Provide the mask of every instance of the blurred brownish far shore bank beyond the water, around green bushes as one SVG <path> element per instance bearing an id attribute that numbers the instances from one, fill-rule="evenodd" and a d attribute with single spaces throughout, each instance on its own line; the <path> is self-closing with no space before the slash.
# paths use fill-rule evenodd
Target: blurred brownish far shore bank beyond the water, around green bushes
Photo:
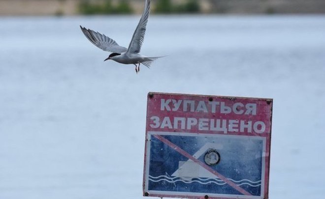
<path id="1" fill-rule="evenodd" d="M 80 4 L 111 3 L 117 5 L 121 2 L 130 6 L 128 13 L 117 10 L 111 14 L 140 14 L 144 0 L 0 0 L 0 16 L 61 16 L 82 15 Z M 191 0 L 190 0 L 191 1 Z M 157 5 L 170 4 L 177 6 L 189 0 L 152 0 L 153 13 Z M 325 0 L 199 0 L 192 1 L 199 8 L 195 14 L 325 14 Z M 120 12 L 121 11 L 121 12 Z M 161 14 L 175 14 L 162 9 Z M 90 14 L 98 14 L 96 12 Z M 99 13 L 100 14 L 100 13 Z"/>

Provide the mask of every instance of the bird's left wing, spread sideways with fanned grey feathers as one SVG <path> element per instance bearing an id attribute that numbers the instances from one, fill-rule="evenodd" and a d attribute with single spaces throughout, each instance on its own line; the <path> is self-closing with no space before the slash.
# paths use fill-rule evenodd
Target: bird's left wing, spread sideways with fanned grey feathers
<path id="1" fill-rule="evenodd" d="M 104 34 L 100 34 L 99 32 L 95 32 L 94 30 L 86 29 L 81 26 L 80 28 L 87 39 L 103 51 L 121 54 L 128 50 L 125 47 L 119 46 L 116 41 Z"/>

